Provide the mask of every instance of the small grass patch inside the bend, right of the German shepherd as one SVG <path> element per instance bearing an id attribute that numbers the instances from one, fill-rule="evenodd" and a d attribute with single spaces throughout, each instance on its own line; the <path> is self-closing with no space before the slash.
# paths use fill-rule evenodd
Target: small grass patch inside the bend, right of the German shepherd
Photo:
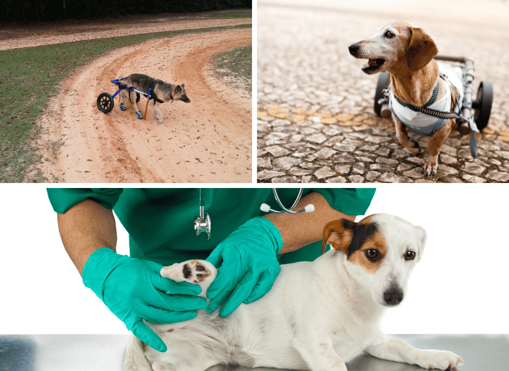
<path id="1" fill-rule="evenodd" d="M 252 45 L 241 46 L 214 56 L 215 75 L 229 85 L 251 91 Z"/>

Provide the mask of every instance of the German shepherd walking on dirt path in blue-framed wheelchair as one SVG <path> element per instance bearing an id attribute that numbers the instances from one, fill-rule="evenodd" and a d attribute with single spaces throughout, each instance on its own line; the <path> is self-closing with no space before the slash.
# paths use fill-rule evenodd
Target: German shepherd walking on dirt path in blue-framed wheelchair
<path id="1" fill-rule="evenodd" d="M 182 85 L 174 85 L 168 84 L 167 82 L 156 80 L 150 76 L 134 73 L 132 75 L 127 76 L 123 81 L 123 84 L 127 86 L 132 86 L 134 89 L 143 91 L 147 93 L 150 90 L 150 102 L 149 105 L 154 109 L 155 116 L 159 123 L 162 123 L 163 115 L 161 110 L 159 109 L 159 104 L 167 102 L 167 101 L 182 101 L 185 103 L 191 102 L 189 98 L 186 96 L 186 91 L 184 90 L 184 84 Z M 154 96 L 155 94 L 155 96 Z M 120 90 L 120 96 L 123 98 L 120 103 L 120 109 L 125 111 L 127 108 L 124 106 L 126 99 L 129 99 L 132 102 L 135 113 L 138 115 L 138 118 L 143 118 L 142 111 L 138 110 L 138 106 L 136 105 L 139 102 L 139 93 L 135 91 L 128 90 L 124 88 Z M 136 99 L 134 99 L 136 97 Z M 154 99 L 155 98 L 155 99 Z"/>

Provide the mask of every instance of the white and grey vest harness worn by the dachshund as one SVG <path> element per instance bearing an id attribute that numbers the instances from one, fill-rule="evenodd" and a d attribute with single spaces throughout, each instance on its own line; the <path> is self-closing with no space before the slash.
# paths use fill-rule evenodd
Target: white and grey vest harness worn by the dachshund
<path id="1" fill-rule="evenodd" d="M 440 78 L 450 86 L 455 94 L 456 105 L 453 111 L 450 110 L 453 99 L 450 89 L 445 96 L 436 100 L 439 89 L 439 82 L 433 90 L 431 99 L 423 107 L 416 107 L 403 102 L 394 92 L 390 90 L 388 94 L 389 109 L 393 115 L 405 125 L 408 129 L 418 135 L 431 136 L 437 130 L 442 128 L 448 119 L 459 119 L 461 116 L 461 103 L 463 102 L 463 77 L 460 77 L 461 71 L 456 72 L 453 67 L 437 62 Z M 475 130 L 470 133 L 470 152 L 472 157 L 477 157 L 477 143 L 475 139 Z M 478 131 L 477 131 L 478 132 Z"/>

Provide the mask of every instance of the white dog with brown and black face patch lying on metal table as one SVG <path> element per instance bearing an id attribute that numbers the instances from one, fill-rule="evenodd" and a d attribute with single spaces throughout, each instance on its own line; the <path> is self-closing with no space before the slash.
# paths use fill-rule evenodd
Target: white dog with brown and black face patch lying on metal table
<path id="1" fill-rule="evenodd" d="M 379 322 L 387 307 L 405 297 L 410 272 L 421 258 L 426 231 L 389 214 L 359 223 L 327 224 L 314 262 L 281 266 L 272 289 L 241 304 L 230 316 L 203 311 L 192 320 L 149 324 L 168 350 L 160 353 L 134 336 L 125 371 L 204 371 L 215 364 L 313 371 L 347 371 L 362 351 L 382 359 L 446 369 L 463 360 L 439 350 L 419 350 L 387 339 Z M 207 288 L 216 269 L 188 261 L 161 269 L 161 275 Z"/>

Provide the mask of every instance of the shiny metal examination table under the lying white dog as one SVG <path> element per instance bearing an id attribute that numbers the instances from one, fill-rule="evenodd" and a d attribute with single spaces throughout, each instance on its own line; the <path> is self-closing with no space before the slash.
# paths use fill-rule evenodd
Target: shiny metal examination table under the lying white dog
<path id="1" fill-rule="evenodd" d="M 448 350 L 464 364 L 458 371 L 509 369 L 509 335 L 389 335 L 422 349 Z M 128 335 L 0 335 L 0 371 L 122 371 Z M 362 354 L 349 371 L 422 371 Z M 213 366 L 210 371 L 246 371 Z M 258 368 L 263 371 L 263 368 Z M 274 369 L 266 369 L 274 371 Z"/>

